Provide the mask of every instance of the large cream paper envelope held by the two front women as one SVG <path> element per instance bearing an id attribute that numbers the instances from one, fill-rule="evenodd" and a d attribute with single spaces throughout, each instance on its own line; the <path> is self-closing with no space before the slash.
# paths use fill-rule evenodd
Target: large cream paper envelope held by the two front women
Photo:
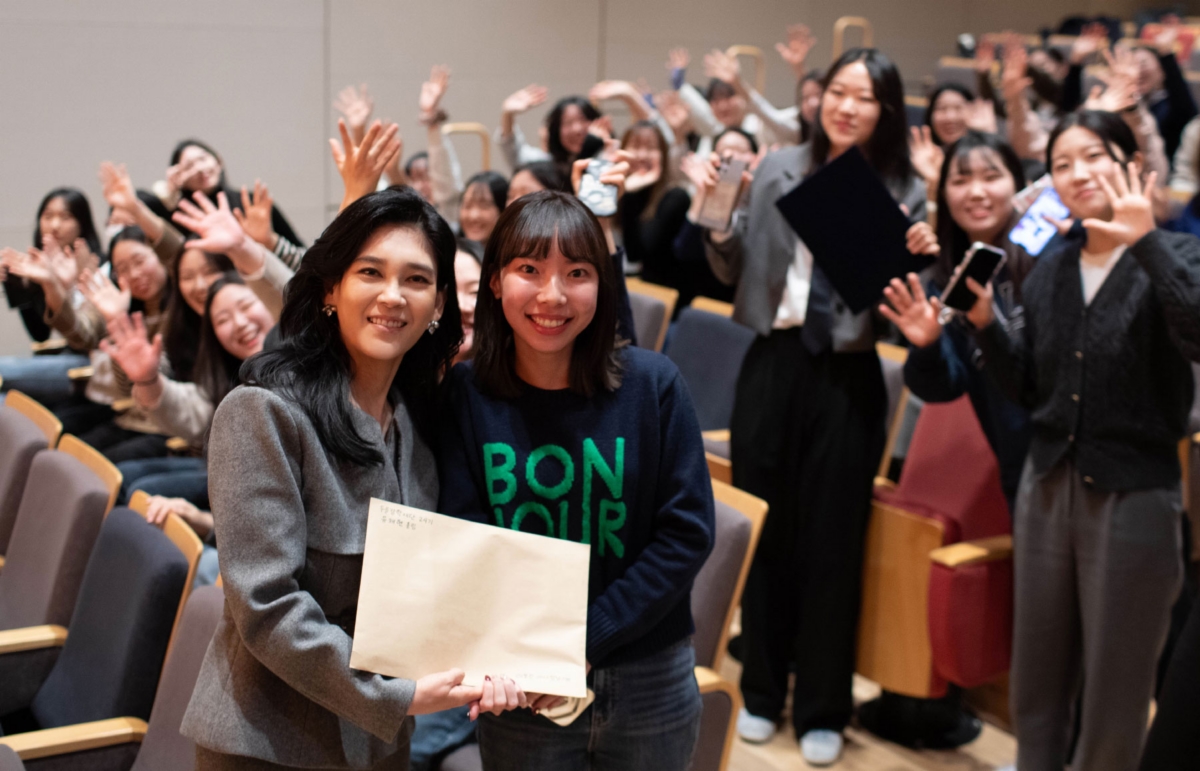
<path id="1" fill-rule="evenodd" d="M 371 500 L 350 667 L 587 694 L 590 549 Z"/>

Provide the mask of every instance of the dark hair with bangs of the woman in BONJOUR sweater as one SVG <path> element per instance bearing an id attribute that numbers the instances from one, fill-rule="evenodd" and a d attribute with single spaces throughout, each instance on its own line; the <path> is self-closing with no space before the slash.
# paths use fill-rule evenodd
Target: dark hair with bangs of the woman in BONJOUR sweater
<path id="1" fill-rule="evenodd" d="M 617 360 L 617 268 L 595 215 L 575 196 L 542 190 L 512 202 L 500 215 L 484 252 L 475 305 L 474 371 L 480 390 L 515 399 L 524 388 L 514 360 L 512 327 L 500 298 L 491 289 L 514 259 L 545 259 L 558 247 L 571 262 L 595 268 L 600 287 L 592 323 L 571 348 L 570 389 L 583 396 L 620 387 Z"/>

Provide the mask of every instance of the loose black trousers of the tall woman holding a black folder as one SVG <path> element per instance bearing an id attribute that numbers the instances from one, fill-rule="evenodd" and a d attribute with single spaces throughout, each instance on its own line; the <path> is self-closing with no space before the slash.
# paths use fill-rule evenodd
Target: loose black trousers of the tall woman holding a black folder
<path id="1" fill-rule="evenodd" d="M 778 718 L 796 665 L 797 735 L 841 730 L 851 688 L 871 483 L 887 392 L 874 351 L 817 355 L 799 329 L 751 345 L 731 425 L 733 483 L 770 510 L 742 598 L 742 695 Z"/>

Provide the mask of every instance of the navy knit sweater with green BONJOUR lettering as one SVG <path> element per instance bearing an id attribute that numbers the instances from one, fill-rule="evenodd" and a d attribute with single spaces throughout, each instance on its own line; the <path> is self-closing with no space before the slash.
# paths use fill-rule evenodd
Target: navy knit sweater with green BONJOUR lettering
<path id="1" fill-rule="evenodd" d="M 713 544 L 683 377 L 658 353 L 620 357 L 620 387 L 592 399 L 529 386 L 493 399 L 460 364 L 438 460 L 444 514 L 590 544 L 587 656 L 598 668 L 694 632 L 691 584 Z"/>

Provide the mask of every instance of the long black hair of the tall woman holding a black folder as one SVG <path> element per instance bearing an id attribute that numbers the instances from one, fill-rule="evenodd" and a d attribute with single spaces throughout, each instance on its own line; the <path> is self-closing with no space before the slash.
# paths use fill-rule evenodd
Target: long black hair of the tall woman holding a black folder
<path id="1" fill-rule="evenodd" d="M 880 102 L 880 120 L 875 124 L 871 138 L 863 148 L 863 155 L 889 189 L 907 185 L 913 177 L 912 161 L 908 159 L 908 125 L 904 109 L 904 84 L 900 71 L 892 64 L 887 54 L 877 48 L 851 48 L 838 61 L 821 83 L 822 90 L 829 89 L 829 83 L 838 73 L 854 62 L 862 61 L 871 76 L 871 88 Z M 829 135 L 821 125 L 821 110 L 817 110 L 816 125 L 812 127 L 812 171 L 824 166 L 829 160 Z"/>

